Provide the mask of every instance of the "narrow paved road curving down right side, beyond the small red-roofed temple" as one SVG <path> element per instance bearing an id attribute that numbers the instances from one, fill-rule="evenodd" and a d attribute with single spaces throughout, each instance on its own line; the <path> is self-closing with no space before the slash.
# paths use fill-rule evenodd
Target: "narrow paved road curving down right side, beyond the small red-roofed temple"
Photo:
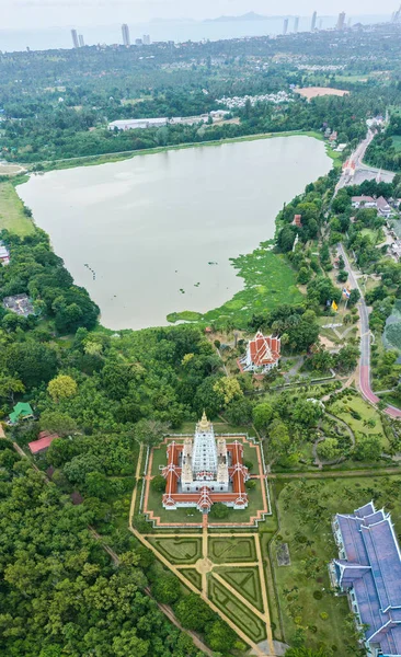
<path id="1" fill-rule="evenodd" d="M 357 289 L 360 295 L 358 302 L 359 315 L 360 315 L 360 358 L 359 358 L 359 389 L 364 397 L 371 404 L 378 404 L 379 397 L 374 393 L 370 387 L 370 328 L 369 328 L 369 313 L 365 302 L 363 291 L 358 285 L 355 273 L 353 272 L 348 257 L 345 253 L 344 246 L 339 244 L 339 254 L 343 257 L 345 269 L 348 274 L 348 280 L 353 289 Z M 401 417 L 401 411 L 394 406 L 388 406 L 385 410 L 387 415 L 390 417 Z"/>

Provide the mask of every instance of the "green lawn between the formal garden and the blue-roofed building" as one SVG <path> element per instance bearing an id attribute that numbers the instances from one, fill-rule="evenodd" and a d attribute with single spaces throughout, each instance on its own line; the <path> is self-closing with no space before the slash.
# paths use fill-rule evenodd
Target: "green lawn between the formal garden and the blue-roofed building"
<path id="1" fill-rule="evenodd" d="M 337 556 L 331 520 L 335 512 L 351 512 L 375 500 L 391 510 L 396 531 L 401 530 L 401 476 L 330 479 L 275 482 L 279 533 L 273 542 L 273 563 L 286 632 L 291 642 L 300 627 L 306 643 L 336 646 L 336 655 L 354 654 L 346 645 L 345 597 L 330 595 L 328 563 Z M 289 566 L 278 566 L 276 544 L 286 542 Z M 322 618 L 322 612 L 323 618 Z M 328 614 L 328 616 L 325 615 Z M 355 647 L 351 644 L 351 648 Z"/>

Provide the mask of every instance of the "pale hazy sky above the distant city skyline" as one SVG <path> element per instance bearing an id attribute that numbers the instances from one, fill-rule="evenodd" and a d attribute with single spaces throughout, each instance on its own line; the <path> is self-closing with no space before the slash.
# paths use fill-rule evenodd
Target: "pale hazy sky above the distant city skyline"
<path id="1" fill-rule="evenodd" d="M 399 0 L 0 0 L 0 30 L 138 23 L 154 18 L 205 19 L 255 11 L 266 15 L 291 13 L 383 14 Z"/>

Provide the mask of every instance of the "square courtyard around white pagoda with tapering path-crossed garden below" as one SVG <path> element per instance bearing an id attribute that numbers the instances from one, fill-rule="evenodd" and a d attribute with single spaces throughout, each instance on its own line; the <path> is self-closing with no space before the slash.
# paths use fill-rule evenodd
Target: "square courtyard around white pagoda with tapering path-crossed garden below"
<path id="1" fill-rule="evenodd" d="M 214 440 L 218 446 L 215 465 L 213 456 L 211 460 L 209 456 L 207 457 L 209 474 L 206 474 L 204 463 L 200 463 L 199 473 L 196 474 L 197 450 L 198 453 L 204 453 L 204 443 L 200 442 L 199 447 L 196 431 L 193 445 L 191 445 L 193 435 L 187 434 L 168 436 L 160 446 L 150 450 L 141 448 L 137 480 L 140 479 L 140 473 L 144 473 L 144 479 L 141 489 L 136 488 L 134 492 L 130 529 L 159 561 L 180 578 L 186 589 L 199 593 L 211 609 L 219 613 L 251 647 L 252 654 L 260 657 L 279 655 L 282 650 L 279 644 L 273 638 L 270 609 L 272 601 L 275 606 L 272 573 L 268 560 L 263 557 L 265 552 L 263 542 L 267 537 L 257 531 L 260 522 L 266 526 L 264 519 L 267 519 L 270 527 L 273 522 L 261 446 L 245 434 L 222 436 L 216 433 L 215 437 L 210 433 L 213 431 L 210 423 L 206 423 L 207 419 L 204 417 L 196 425 L 197 439 L 209 440 L 211 452 Z M 215 503 L 221 504 L 221 499 L 227 498 L 228 504 L 232 500 L 232 504 L 236 504 L 238 498 L 236 495 L 239 494 L 241 499 L 245 499 L 244 508 L 229 508 L 224 519 L 213 517 L 213 512 L 200 512 L 196 506 L 165 508 L 171 497 L 169 487 L 164 494 L 157 493 L 151 487 L 151 481 L 163 472 L 168 486 L 169 477 L 174 476 L 175 482 L 176 471 L 177 476 L 181 477 L 185 458 L 175 459 L 176 466 L 170 470 L 169 462 L 172 462 L 172 450 L 174 453 L 184 454 L 185 445 L 186 450 L 193 450 L 191 453 L 194 463 L 194 472 L 186 472 L 186 476 L 188 482 L 193 477 L 194 492 L 199 487 L 196 492 L 198 498 L 202 499 L 200 487 L 204 483 L 208 484 L 209 494 L 213 496 L 211 487 L 215 487 L 213 468 L 215 466 L 216 481 L 217 470 L 219 484 L 220 480 L 227 480 L 226 484 L 221 484 L 226 488 L 224 497 L 220 491 L 216 492 Z M 240 491 L 237 491 L 236 495 L 236 481 L 232 483 L 232 480 L 239 466 L 227 458 L 230 450 L 241 453 L 241 472 L 249 481 L 255 482 L 255 485 L 250 488 L 239 483 Z M 196 477 L 199 480 L 199 486 L 196 486 Z M 180 482 L 179 487 L 175 487 L 175 500 L 181 499 L 181 491 Z M 138 512 L 147 518 L 148 531 L 139 532 L 133 525 L 133 518 Z M 140 529 L 142 530 L 142 526 Z"/>

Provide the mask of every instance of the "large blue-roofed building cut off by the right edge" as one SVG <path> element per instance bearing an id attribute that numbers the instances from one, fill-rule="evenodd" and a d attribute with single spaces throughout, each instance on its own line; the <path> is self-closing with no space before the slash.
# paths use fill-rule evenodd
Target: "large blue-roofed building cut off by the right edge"
<path id="1" fill-rule="evenodd" d="M 389 514 L 373 503 L 337 514 L 333 530 L 340 558 L 336 584 L 348 593 L 371 655 L 401 657 L 401 552 Z"/>

